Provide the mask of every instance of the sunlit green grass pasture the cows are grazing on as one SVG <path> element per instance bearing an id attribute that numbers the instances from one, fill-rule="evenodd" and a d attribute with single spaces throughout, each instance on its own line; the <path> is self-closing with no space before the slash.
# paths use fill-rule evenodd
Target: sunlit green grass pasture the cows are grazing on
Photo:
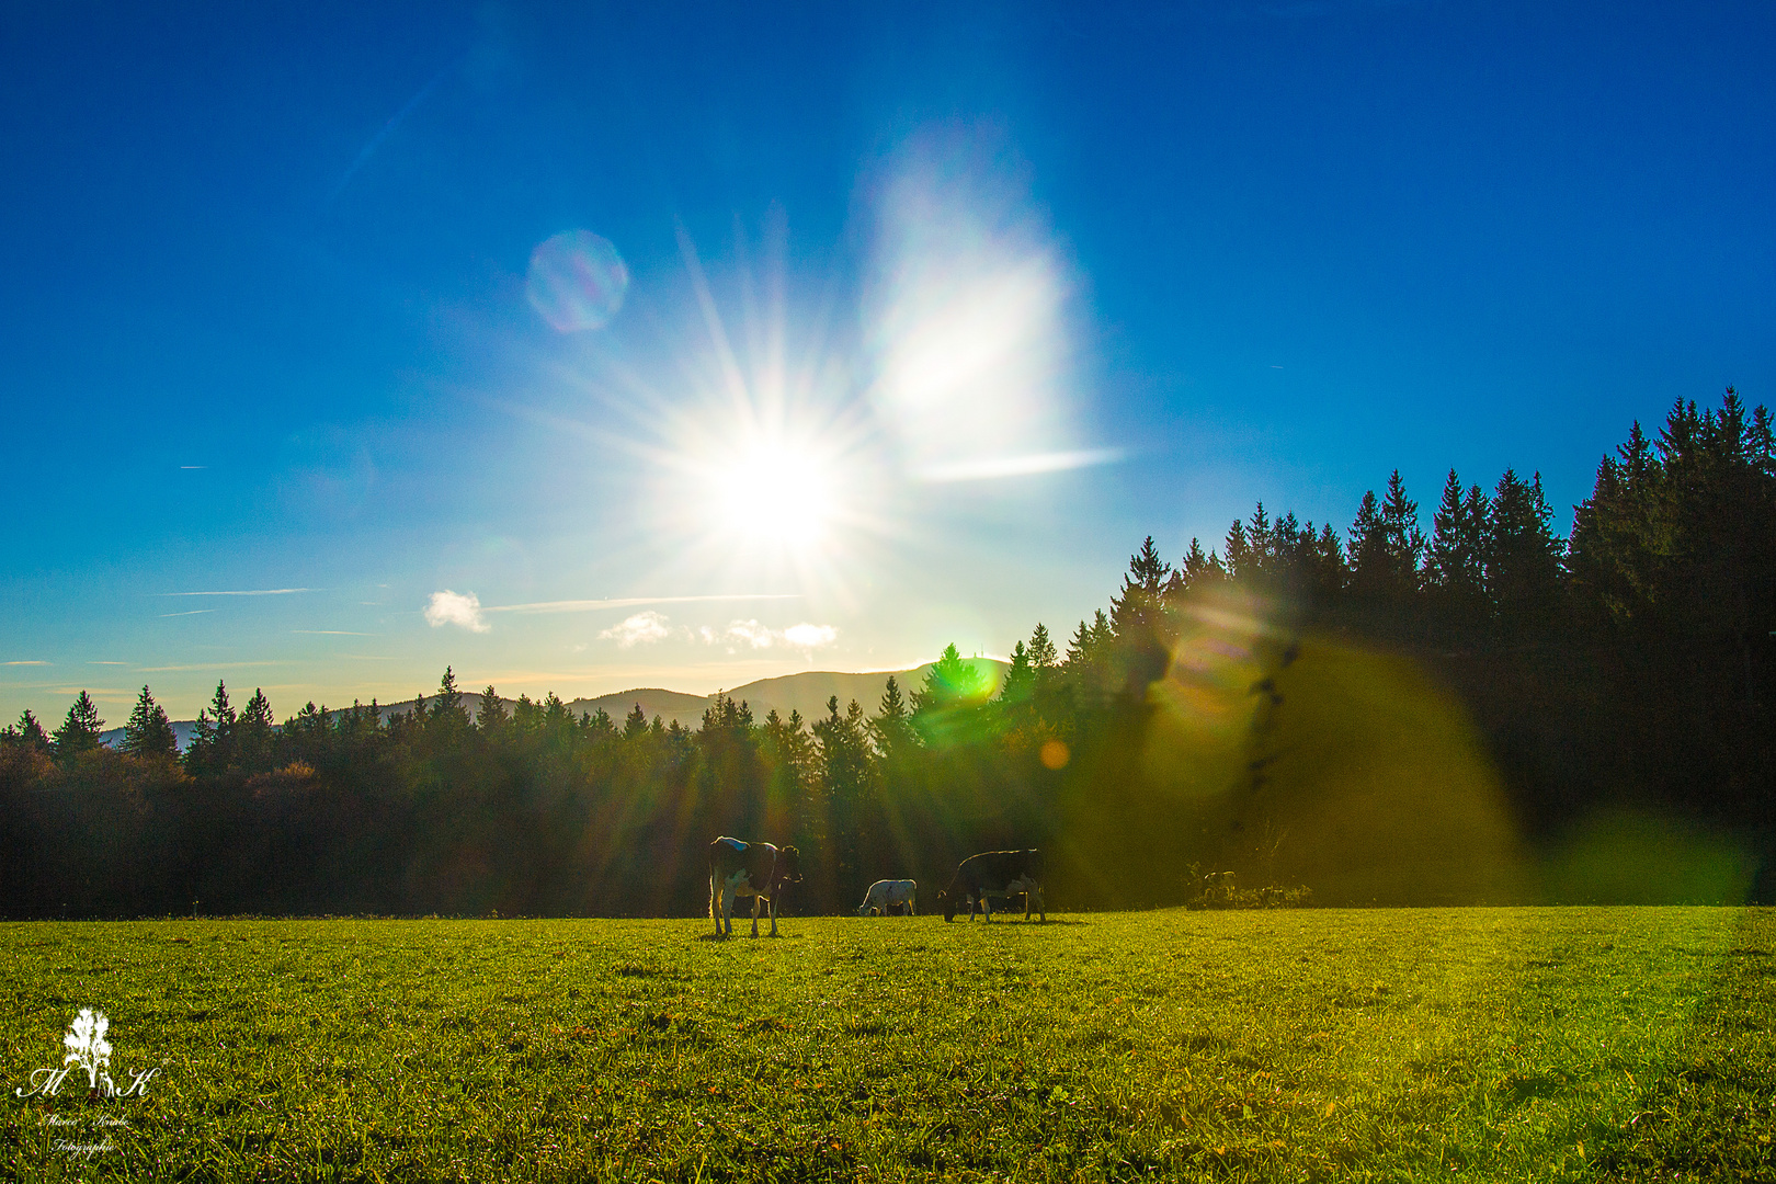
<path id="1" fill-rule="evenodd" d="M 0 925 L 0 1175 L 1776 1179 L 1771 911 L 707 927 Z"/>

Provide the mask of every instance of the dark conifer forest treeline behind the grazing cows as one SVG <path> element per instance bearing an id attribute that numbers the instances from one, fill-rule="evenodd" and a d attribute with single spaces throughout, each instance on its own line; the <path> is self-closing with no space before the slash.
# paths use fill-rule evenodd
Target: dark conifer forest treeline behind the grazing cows
<path id="1" fill-rule="evenodd" d="M 115 749 L 82 692 L 53 735 L 30 712 L 0 733 L 0 909 L 686 916 L 716 834 L 801 847 L 792 912 L 879 877 L 934 898 L 996 847 L 1044 847 L 1064 909 L 1183 902 L 1208 870 L 1327 904 L 1531 900 L 1572 895 L 1536 868 L 1623 811 L 1653 847 L 1705 836 L 1742 895 L 1776 849 L 1772 630 L 1776 442 L 1728 389 L 1636 424 L 1570 538 L 1513 470 L 1451 472 L 1428 533 L 1398 472 L 1344 536 L 1259 504 L 1176 566 L 1146 540 L 998 685 L 950 646 L 813 721 L 508 712 L 492 687 L 471 712 L 446 671 L 387 722 L 275 726 L 218 683 L 181 754 L 147 687 Z"/>

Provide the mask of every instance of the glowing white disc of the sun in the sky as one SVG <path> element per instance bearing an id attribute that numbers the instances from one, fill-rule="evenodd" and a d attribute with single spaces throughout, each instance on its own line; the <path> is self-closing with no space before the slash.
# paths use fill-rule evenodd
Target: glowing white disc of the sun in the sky
<path id="1" fill-rule="evenodd" d="M 836 515 L 829 465 L 808 447 L 755 442 L 710 474 L 716 525 L 751 543 L 817 545 Z"/>

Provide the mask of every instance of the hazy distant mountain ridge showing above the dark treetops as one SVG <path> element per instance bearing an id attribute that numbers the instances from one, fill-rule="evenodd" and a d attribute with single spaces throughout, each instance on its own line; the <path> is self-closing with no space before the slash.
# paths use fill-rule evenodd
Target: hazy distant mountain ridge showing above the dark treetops
<path id="1" fill-rule="evenodd" d="M 968 659 L 968 664 L 986 673 L 993 680 L 993 689 L 998 691 L 1005 676 L 1005 662 L 998 659 Z M 684 691 L 664 691 L 661 687 L 636 687 L 634 691 L 618 691 L 590 699 L 570 699 L 567 706 L 575 717 L 597 715 L 602 710 L 611 719 L 622 721 L 636 705 L 641 705 L 641 712 L 648 721 L 657 715 L 664 724 L 677 721 L 684 728 L 698 728 L 703 722 L 703 712 L 714 706 L 719 694 L 735 703 L 746 703 L 753 712 L 753 721 L 758 722 L 773 710 L 783 719 L 789 719 L 790 712 L 801 712 L 805 721 L 813 722 L 826 717 L 826 701 L 833 696 L 838 696 L 840 710 L 845 710 L 851 699 L 856 699 L 867 715 L 874 715 L 881 708 L 881 698 L 888 689 L 890 676 L 899 680 L 900 694 L 911 699 L 913 692 L 925 685 L 925 673 L 931 667 L 932 662 L 906 671 L 868 671 L 863 675 L 801 671 L 778 678 L 760 678 L 732 691 L 718 691 L 716 694 L 686 694 Z M 471 717 L 481 710 L 481 696 L 478 692 L 464 692 L 462 699 Z M 426 701 L 430 703 L 432 696 L 426 696 Z M 511 710 L 517 699 L 501 696 L 501 703 L 506 705 L 506 710 Z M 394 715 L 412 712 L 414 699 L 378 703 L 377 708 L 382 721 L 387 722 Z M 337 710 L 329 708 L 329 715 Z M 284 712 L 286 717 L 293 714 Z M 179 751 L 192 742 L 195 728 L 197 721 L 194 719 L 178 719 L 172 722 L 172 735 L 179 742 Z M 99 740 L 115 747 L 123 740 L 123 728 L 110 728 L 99 733 Z"/>

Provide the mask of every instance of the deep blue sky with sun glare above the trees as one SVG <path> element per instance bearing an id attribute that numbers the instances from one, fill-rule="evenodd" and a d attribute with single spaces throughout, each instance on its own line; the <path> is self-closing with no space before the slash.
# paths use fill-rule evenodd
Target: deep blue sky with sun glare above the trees
<path id="1" fill-rule="evenodd" d="M 1769 5 L 957 7 L 9 9 L 0 714 L 1005 653 L 1771 401 Z"/>

